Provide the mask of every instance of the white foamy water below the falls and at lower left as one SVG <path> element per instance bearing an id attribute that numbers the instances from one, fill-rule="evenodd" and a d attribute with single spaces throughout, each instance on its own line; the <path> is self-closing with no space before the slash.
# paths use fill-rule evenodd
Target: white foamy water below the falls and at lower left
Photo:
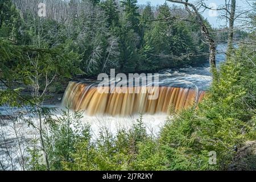
<path id="1" fill-rule="evenodd" d="M 9 107 L 8 107 L 9 108 Z M 7 109 L 7 108 L 5 108 Z M 10 110 L 6 111 L 2 107 L 2 113 L 10 114 Z M 10 109 L 10 108 L 9 108 Z M 16 110 L 18 112 L 22 109 Z M 16 113 L 14 109 L 11 109 L 11 113 Z M 72 111 L 69 111 L 72 114 Z M 60 112 L 55 113 L 53 118 L 57 119 L 61 117 Z M 147 133 L 150 135 L 157 135 L 167 120 L 166 114 L 144 114 L 143 123 L 146 126 Z M 25 115 L 28 118 L 28 115 Z M 139 115 L 133 115 L 129 117 L 112 117 L 109 115 L 95 115 L 88 116 L 83 114 L 81 119 L 81 125 L 90 125 L 92 139 L 95 140 L 99 137 L 100 131 L 108 130 L 113 135 L 117 134 L 120 129 L 125 129 L 128 131 Z M 36 126 L 38 126 L 38 119 L 33 118 Z M 72 126 L 71 126 L 72 127 Z M 0 164 L 5 168 L 5 170 L 22 170 L 22 158 L 26 159 L 27 149 L 30 146 L 30 140 L 33 138 L 38 138 L 38 132 L 32 127 L 24 123 L 22 119 L 14 122 L 11 120 L 2 120 L 0 123 Z M 2 167 L 0 166 L 0 170 Z"/>

